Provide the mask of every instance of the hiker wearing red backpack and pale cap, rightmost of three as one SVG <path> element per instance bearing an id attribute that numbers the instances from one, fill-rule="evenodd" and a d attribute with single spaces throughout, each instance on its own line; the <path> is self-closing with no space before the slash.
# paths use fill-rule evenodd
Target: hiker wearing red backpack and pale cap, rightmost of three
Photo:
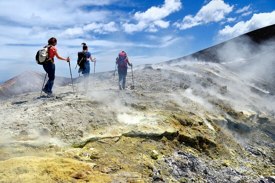
<path id="1" fill-rule="evenodd" d="M 121 53 L 119 53 L 119 56 L 116 59 L 116 64 L 119 73 L 119 90 L 125 89 L 128 68 L 127 63 L 129 66 L 133 66 L 133 64 L 130 63 L 129 58 L 126 55 L 126 51 L 122 51 Z"/>

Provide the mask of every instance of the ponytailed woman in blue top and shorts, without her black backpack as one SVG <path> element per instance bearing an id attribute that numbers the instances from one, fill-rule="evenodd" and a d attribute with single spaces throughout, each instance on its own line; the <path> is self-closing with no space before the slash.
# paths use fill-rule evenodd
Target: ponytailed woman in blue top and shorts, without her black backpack
<path id="1" fill-rule="evenodd" d="M 88 83 L 89 83 L 89 74 L 90 74 L 90 62 L 89 60 L 91 59 L 92 62 L 97 61 L 97 59 L 93 59 L 92 58 L 92 54 L 90 52 L 88 52 L 88 47 L 86 45 L 86 43 L 82 43 L 81 45 L 83 45 L 83 51 L 82 52 L 86 52 L 87 55 L 87 59 L 84 62 L 84 67 L 79 67 L 78 73 L 82 72 L 83 74 L 83 83 L 84 83 L 84 90 L 87 91 L 88 90 Z"/>

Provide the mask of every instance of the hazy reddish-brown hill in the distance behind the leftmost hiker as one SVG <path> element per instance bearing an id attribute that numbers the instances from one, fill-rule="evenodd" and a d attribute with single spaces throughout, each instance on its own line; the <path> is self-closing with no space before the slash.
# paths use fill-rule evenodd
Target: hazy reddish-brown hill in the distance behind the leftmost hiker
<path id="1" fill-rule="evenodd" d="M 0 98 L 7 97 L 9 95 L 18 95 L 39 90 L 41 91 L 44 79 L 45 73 L 31 70 L 25 71 L 0 85 Z M 47 80 L 48 77 L 46 78 L 46 81 Z M 66 86 L 71 82 L 71 78 L 56 76 L 54 80 L 54 87 Z"/>

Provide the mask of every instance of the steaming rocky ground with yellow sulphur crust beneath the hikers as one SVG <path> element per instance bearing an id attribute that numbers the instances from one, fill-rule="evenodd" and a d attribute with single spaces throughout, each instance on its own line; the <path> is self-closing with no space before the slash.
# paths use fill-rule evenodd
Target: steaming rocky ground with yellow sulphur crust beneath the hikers
<path id="1" fill-rule="evenodd" d="M 0 182 L 275 182 L 266 78 L 189 62 L 117 79 L 1 99 Z"/>

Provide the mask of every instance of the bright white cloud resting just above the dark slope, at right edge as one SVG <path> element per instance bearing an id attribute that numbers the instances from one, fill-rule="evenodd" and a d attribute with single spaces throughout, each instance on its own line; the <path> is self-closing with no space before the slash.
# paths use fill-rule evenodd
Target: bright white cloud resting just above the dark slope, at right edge
<path id="1" fill-rule="evenodd" d="M 255 13 L 252 18 L 246 22 L 240 21 L 233 27 L 230 27 L 229 25 L 225 26 L 224 29 L 219 30 L 218 35 L 215 37 L 215 39 L 231 39 L 241 34 L 272 24 L 275 24 L 275 10 L 270 13 Z"/>

